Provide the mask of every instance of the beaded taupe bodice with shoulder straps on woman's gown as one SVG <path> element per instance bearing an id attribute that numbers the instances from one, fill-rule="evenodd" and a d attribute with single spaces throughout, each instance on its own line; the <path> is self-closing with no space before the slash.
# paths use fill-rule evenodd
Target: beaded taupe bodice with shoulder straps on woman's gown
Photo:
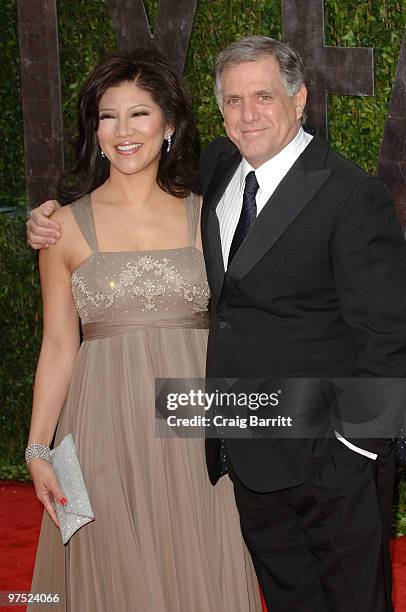
<path id="1" fill-rule="evenodd" d="M 199 203 L 185 200 L 190 245 L 156 251 L 98 250 L 90 197 L 71 204 L 92 254 L 72 273 L 82 323 L 115 320 L 154 324 L 207 310 L 209 288 L 203 254 L 195 248 Z"/>

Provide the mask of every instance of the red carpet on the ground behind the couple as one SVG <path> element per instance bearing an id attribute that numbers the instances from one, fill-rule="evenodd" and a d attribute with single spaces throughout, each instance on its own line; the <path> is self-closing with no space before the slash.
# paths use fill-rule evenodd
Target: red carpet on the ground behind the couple
<path id="1" fill-rule="evenodd" d="M 29 591 L 41 516 L 32 485 L 0 483 L 0 591 Z M 392 542 L 392 558 L 395 609 L 406 612 L 406 537 Z"/>

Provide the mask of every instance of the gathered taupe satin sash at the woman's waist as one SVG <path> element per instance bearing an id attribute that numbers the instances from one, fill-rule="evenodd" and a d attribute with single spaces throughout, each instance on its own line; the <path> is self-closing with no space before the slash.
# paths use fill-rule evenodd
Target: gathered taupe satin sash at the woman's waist
<path id="1" fill-rule="evenodd" d="M 157 319 L 156 315 L 154 315 L 151 318 L 145 316 L 137 321 L 121 319 L 83 323 L 83 340 L 99 340 L 100 338 L 129 334 L 154 327 L 165 329 L 208 329 L 209 314 L 207 311 L 199 311 L 177 318 Z"/>

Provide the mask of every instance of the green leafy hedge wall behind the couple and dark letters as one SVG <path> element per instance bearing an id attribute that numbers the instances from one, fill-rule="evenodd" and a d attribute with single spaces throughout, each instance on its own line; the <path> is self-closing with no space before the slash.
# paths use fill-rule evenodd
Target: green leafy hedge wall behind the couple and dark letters
<path id="1" fill-rule="evenodd" d="M 326 44 L 375 49 L 376 95 L 329 97 L 332 145 L 373 173 L 406 22 L 405 0 L 325 0 L 324 4 Z M 157 1 L 146 0 L 145 5 L 153 27 Z M 78 92 L 95 63 L 116 48 L 116 40 L 105 0 L 57 0 L 57 7 L 65 162 L 69 166 Z M 223 132 L 211 80 L 216 54 L 237 37 L 267 34 L 280 39 L 281 33 L 280 0 L 199 0 L 185 78 L 193 96 L 200 147 Z M 24 213 L 16 0 L 2 1 L 0 65 L 0 207 L 14 205 Z M 0 215 L 0 478 L 25 474 L 20 457 L 40 344 L 36 256 L 27 249 L 24 234 L 23 214 Z M 405 497 L 406 491 L 401 494 L 403 507 Z M 397 524 L 406 533 L 403 512 L 400 508 Z"/>

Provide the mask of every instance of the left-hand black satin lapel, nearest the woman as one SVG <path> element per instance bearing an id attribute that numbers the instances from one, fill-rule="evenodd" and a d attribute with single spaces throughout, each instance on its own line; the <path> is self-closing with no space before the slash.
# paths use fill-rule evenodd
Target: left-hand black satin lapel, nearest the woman
<path id="1" fill-rule="evenodd" d="M 216 206 L 230 182 L 241 156 L 238 153 L 228 155 L 217 165 L 204 196 L 202 208 L 202 242 L 212 299 L 218 301 L 224 282 L 224 262 L 221 250 L 220 225 L 216 215 Z"/>

